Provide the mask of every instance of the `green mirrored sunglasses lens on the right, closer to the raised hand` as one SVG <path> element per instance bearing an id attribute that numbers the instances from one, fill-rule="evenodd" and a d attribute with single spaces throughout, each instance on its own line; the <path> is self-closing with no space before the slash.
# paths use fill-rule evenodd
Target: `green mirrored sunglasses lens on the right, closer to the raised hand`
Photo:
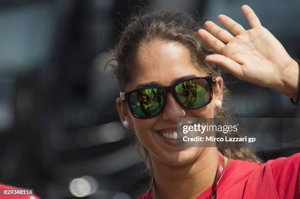
<path id="1" fill-rule="evenodd" d="M 210 88 L 205 79 L 195 79 L 182 82 L 175 87 L 177 97 L 183 106 L 197 108 L 210 99 Z"/>

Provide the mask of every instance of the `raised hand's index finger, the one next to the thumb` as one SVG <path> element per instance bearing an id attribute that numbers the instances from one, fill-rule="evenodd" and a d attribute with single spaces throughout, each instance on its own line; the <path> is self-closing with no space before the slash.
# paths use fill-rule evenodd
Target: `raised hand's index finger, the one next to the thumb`
<path id="1" fill-rule="evenodd" d="M 198 30 L 200 39 L 217 53 L 221 53 L 225 44 L 204 29 Z"/>

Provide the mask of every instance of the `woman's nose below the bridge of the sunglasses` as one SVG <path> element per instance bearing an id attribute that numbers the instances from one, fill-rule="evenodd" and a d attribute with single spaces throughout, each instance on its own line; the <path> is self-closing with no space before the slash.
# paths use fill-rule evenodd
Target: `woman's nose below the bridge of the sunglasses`
<path id="1" fill-rule="evenodd" d="M 173 95 L 169 92 L 167 93 L 167 101 L 162 112 L 162 117 L 164 120 L 170 120 L 172 122 L 177 122 L 177 119 L 185 116 L 184 109 L 178 104 Z"/>

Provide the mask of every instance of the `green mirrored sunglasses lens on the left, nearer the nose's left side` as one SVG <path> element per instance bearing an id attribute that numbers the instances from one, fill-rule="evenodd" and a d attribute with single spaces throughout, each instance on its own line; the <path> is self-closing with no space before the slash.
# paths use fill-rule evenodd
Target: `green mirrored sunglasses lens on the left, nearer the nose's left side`
<path id="1" fill-rule="evenodd" d="M 158 114 L 164 104 L 160 88 L 145 88 L 131 93 L 130 104 L 135 115 L 149 117 Z"/>

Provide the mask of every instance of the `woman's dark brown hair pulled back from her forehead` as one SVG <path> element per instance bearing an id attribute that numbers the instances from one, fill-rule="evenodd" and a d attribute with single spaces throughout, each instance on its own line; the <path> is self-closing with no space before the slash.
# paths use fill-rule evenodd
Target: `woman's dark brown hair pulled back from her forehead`
<path id="1" fill-rule="evenodd" d="M 115 75 L 119 80 L 120 89 L 126 91 L 125 85 L 130 82 L 132 71 L 134 67 L 136 67 L 134 58 L 137 56 L 138 50 L 145 44 L 149 44 L 151 41 L 158 39 L 163 42 L 176 42 L 185 46 L 190 52 L 193 64 L 204 69 L 208 74 L 221 76 L 217 66 L 204 61 L 205 57 L 213 54 L 214 51 L 208 48 L 199 39 L 197 31 L 200 28 L 200 23 L 197 22 L 197 20 L 194 20 L 190 15 L 179 10 L 160 11 L 151 8 L 143 9 L 138 15 L 129 20 L 118 44 L 116 44 L 112 50 L 117 64 L 107 64 L 105 68 L 107 66 L 113 67 Z M 226 109 L 228 90 L 225 86 L 223 90 L 224 103 L 222 110 L 216 110 L 215 117 L 231 118 L 232 115 L 228 113 Z M 138 139 L 137 148 L 139 153 L 143 148 L 145 156 L 142 157 L 149 165 L 150 170 L 152 170 L 148 150 Z M 226 157 L 261 162 L 250 145 L 232 145 L 227 148 L 218 149 Z"/>

